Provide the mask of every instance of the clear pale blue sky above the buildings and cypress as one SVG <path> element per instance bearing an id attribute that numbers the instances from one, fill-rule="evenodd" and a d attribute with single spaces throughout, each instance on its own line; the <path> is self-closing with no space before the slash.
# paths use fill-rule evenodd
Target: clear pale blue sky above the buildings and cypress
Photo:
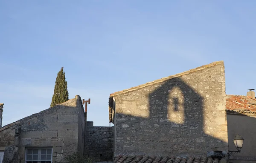
<path id="1" fill-rule="evenodd" d="M 48 109 L 64 66 L 70 99 L 108 126 L 109 94 L 224 60 L 226 93 L 256 89 L 255 0 L 1 0 L 3 125 Z"/>

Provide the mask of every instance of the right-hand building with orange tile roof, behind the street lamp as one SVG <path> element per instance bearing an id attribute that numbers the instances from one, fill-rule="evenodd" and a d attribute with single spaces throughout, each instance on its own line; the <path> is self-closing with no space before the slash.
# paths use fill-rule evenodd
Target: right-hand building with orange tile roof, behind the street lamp
<path id="1" fill-rule="evenodd" d="M 227 126 L 229 150 L 236 151 L 233 136 L 241 134 L 244 138 L 240 153 L 230 157 L 233 163 L 256 163 L 256 99 L 255 92 L 247 96 L 227 95 Z"/>

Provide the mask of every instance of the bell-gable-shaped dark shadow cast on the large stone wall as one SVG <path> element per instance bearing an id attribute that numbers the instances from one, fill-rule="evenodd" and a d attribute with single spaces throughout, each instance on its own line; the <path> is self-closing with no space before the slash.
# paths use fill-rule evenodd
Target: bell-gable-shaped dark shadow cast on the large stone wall
<path id="1" fill-rule="evenodd" d="M 167 80 L 149 94 L 148 118 L 116 113 L 116 118 L 125 118 L 129 127 L 117 127 L 115 155 L 188 156 L 206 155 L 209 150 L 226 150 L 227 142 L 204 132 L 204 114 L 207 114 L 204 113 L 204 102 L 204 98 L 181 78 Z"/>

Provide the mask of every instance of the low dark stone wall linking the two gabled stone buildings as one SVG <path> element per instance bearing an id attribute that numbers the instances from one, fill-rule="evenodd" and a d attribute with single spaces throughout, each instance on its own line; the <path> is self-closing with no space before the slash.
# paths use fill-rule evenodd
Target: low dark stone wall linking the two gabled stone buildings
<path id="1" fill-rule="evenodd" d="M 113 127 L 93 126 L 88 121 L 84 154 L 96 162 L 113 161 Z"/>

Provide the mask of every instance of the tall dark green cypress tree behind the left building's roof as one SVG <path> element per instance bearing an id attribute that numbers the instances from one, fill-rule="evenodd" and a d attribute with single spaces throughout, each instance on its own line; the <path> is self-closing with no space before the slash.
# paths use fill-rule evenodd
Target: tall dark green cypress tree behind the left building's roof
<path id="1" fill-rule="evenodd" d="M 68 100 L 67 81 L 63 67 L 56 77 L 51 107 Z"/>

